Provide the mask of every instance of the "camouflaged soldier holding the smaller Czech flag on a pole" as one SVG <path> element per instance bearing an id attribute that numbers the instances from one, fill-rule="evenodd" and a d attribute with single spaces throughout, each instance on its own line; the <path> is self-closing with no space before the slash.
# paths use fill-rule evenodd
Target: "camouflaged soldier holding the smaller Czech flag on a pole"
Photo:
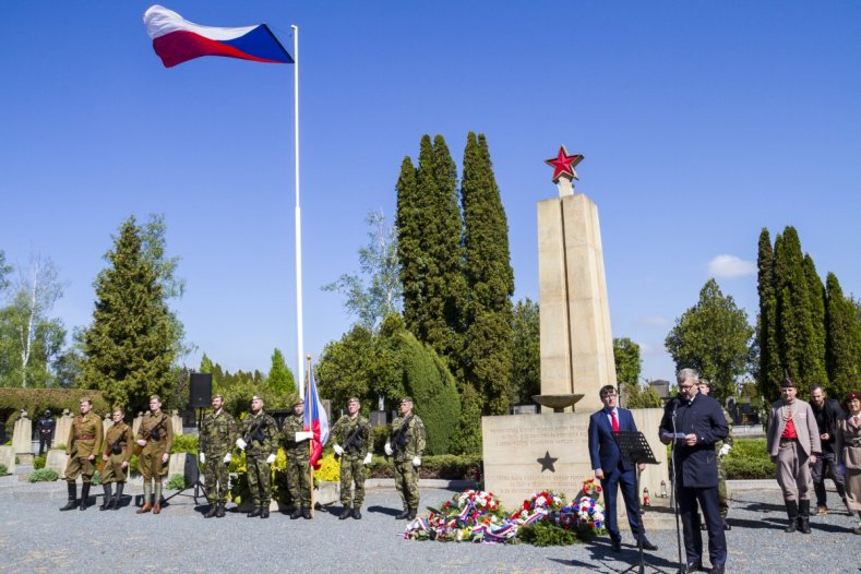
<path id="1" fill-rule="evenodd" d="M 287 490 L 295 509 L 291 519 L 303 516 L 311 519 L 311 447 L 308 441 L 313 433 L 304 428 L 304 403 L 299 395 L 288 397 L 292 415 L 284 419 L 282 441 L 287 454 Z"/>

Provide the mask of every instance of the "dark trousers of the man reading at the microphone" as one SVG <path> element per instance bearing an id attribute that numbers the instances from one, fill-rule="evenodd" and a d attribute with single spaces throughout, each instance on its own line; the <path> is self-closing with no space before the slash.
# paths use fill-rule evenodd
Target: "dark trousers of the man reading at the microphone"
<path id="1" fill-rule="evenodd" d="M 708 557 L 711 565 L 726 564 L 727 537 L 724 533 L 724 523 L 720 519 L 717 485 L 709 488 L 679 488 L 679 515 L 684 529 L 684 553 L 687 563 L 691 564 L 703 559 L 703 535 L 699 530 L 697 502 L 703 509 L 703 516 L 708 527 Z"/>

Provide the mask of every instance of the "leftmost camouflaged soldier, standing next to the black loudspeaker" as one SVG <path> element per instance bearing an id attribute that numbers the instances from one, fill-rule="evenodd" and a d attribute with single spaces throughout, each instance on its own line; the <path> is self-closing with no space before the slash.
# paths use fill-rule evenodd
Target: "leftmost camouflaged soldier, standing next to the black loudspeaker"
<path id="1" fill-rule="evenodd" d="M 237 439 L 236 420 L 222 408 L 224 397 L 212 397 L 213 409 L 203 416 L 201 424 L 201 454 L 203 476 L 210 498 L 210 512 L 204 518 L 217 516 L 224 518 L 224 505 L 227 504 L 229 465 L 234 456 L 234 443 Z"/>

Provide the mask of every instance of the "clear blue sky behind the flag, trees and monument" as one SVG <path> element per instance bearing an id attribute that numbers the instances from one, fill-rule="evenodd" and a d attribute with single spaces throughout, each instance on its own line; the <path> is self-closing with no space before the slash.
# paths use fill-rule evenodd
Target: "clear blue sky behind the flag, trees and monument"
<path id="1" fill-rule="evenodd" d="M 164 69 L 151 2 L 4 4 L 0 249 L 40 252 L 55 308 L 89 322 L 92 282 L 130 214 L 163 213 L 188 282 L 175 308 L 230 370 L 296 357 L 292 70 L 226 58 Z M 441 133 L 461 164 L 487 134 L 515 299 L 538 298 L 543 159 L 582 153 L 613 336 L 670 379 L 672 322 L 710 276 L 755 320 L 760 230 L 798 229 L 820 274 L 861 294 L 861 4 L 854 2 L 208 2 L 213 26 L 300 31 L 306 350 L 350 318 L 323 284 L 358 268 L 364 215 L 393 216 L 404 156 Z"/>

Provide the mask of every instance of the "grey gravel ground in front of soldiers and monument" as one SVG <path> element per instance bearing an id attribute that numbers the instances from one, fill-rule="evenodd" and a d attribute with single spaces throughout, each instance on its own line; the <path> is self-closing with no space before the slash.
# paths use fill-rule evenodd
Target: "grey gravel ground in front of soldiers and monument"
<path id="1" fill-rule="evenodd" d="M 770 483 L 763 486 L 767 488 L 737 492 L 732 501 L 728 572 L 861 572 L 861 537 L 851 533 L 854 518 L 846 512 L 816 516 L 813 534 L 785 534 L 779 493 Z M 429 505 L 451 495 L 443 489 L 421 491 L 422 504 Z M 313 521 L 280 514 L 262 521 L 238 513 L 205 521 L 204 509 L 184 497 L 174 499 L 159 516 L 137 516 L 130 506 L 60 513 L 64 499 L 63 482 L 0 478 L 0 571 L 621 573 L 638 560 L 630 537 L 621 553 L 610 551 L 606 539 L 555 548 L 404 540 L 405 523 L 393 518 L 399 499 L 390 489 L 369 492 L 362 521 L 338 521 L 326 509 Z M 829 500 L 836 495 L 830 493 Z M 675 530 L 653 530 L 649 538 L 660 549 L 647 554 L 646 572 L 656 572 L 650 566 L 674 572 Z"/>

